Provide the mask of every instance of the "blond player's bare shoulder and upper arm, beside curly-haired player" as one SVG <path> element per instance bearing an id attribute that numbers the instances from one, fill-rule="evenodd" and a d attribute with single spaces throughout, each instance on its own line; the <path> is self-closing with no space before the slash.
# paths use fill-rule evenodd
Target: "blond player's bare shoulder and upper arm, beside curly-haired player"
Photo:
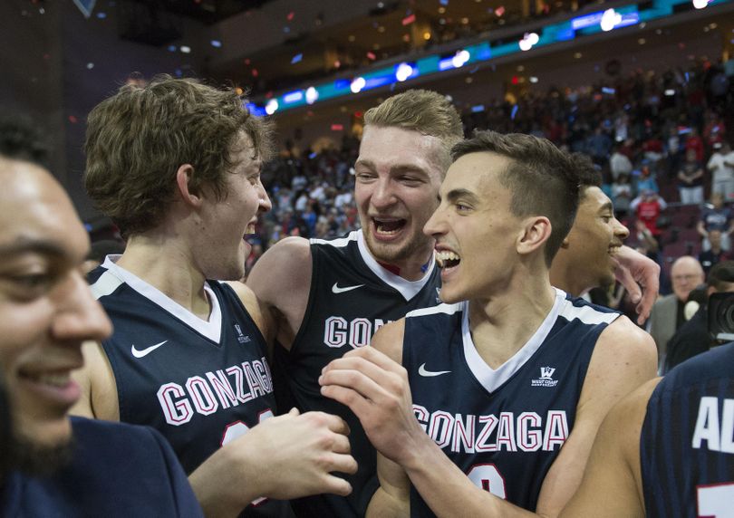
<path id="1" fill-rule="evenodd" d="M 275 320 L 275 338 L 288 350 L 304 321 L 312 270 L 308 240 L 287 237 L 269 248 L 247 276 L 263 312 Z"/>

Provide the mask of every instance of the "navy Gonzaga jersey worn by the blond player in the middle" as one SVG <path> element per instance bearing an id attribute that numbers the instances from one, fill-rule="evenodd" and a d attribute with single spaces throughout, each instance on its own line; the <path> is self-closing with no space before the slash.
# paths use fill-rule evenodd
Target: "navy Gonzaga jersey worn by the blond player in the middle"
<path id="1" fill-rule="evenodd" d="M 318 495 L 296 502 L 294 509 L 299 515 L 320 518 L 362 516 L 378 486 L 376 454 L 359 419 L 349 408 L 324 398 L 318 379 L 330 361 L 368 345 L 383 324 L 438 304 L 440 272 L 433 261 L 420 281 L 388 272 L 367 250 L 362 231 L 330 241 L 312 239 L 311 255 L 311 291 L 301 329 L 290 351 L 275 349 L 278 406 L 343 417 L 351 429 L 349 440 L 359 471 L 345 476 L 354 488 L 350 496 Z"/>

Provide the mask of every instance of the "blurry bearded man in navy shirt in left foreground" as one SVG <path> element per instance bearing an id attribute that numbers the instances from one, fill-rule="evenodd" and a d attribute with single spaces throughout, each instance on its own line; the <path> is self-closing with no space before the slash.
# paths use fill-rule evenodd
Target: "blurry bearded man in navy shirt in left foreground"
<path id="1" fill-rule="evenodd" d="M 200 517 L 158 433 L 67 414 L 82 341 L 111 325 L 82 277 L 89 238 L 44 156 L 33 129 L 0 120 L 0 371 L 12 417 L 0 516 Z"/>

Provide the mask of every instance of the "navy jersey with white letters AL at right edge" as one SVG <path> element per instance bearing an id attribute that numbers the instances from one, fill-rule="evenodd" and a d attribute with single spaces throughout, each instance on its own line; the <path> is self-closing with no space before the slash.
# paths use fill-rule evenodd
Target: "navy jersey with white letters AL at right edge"
<path id="1" fill-rule="evenodd" d="M 684 361 L 658 384 L 640 467 L 647 516 L 732 516 L 734 344 Z"/>

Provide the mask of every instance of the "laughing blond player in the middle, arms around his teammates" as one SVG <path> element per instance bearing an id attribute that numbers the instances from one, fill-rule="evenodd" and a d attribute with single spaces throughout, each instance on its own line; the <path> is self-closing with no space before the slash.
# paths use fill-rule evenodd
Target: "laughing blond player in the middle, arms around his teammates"
<path id="1" fill-rule="evenodd" d="M 275 377 L 280 373 L 287 386 L 289 405 L 336 413 L 351 429 L 359 471 L 348 480 L 362 491 L 355 490 L 348 503 L 330 495 L 300 502 L 297 511 L 304 515 L 362 516 L 376 487 L 372 446 L 351 412 L 321 396 L 321 370 L 347 350 L 369 344 L 384 323 L 440 302 L 433 238 L 422 228 L 437 206 L 449 149 L 462 138 L 459 114 L 439 93 L 409 90 L 367 110 L 364 124 L 354 165 L 362 230 L 331 241 L 289 237 L 268 250 L 247 278 L 278 315 Z M 657 296 L 660 268 L 623 248 L 618 256 L 630 269 L 620 271 L 644 320 Z"/>

